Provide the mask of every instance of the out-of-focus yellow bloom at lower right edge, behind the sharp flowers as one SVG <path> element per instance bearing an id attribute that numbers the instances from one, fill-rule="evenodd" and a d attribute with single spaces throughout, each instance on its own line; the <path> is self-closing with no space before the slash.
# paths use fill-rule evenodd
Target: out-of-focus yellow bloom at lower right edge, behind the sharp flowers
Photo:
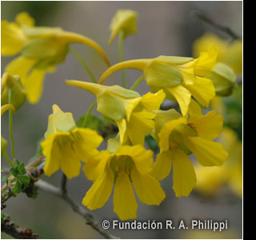
<path id="1" fill-rule="evenodd" d="M 242 198 L 242 142 L 238 141 L 233 130 L 225 128 L 220 141 L 229 153 L 229 157 L 221 168 L 202 168 L 196 165 L 198 182 L 195 187 L 199 193 L 213 196 L 222 186 L 229 186 L 238 197 Z"/>

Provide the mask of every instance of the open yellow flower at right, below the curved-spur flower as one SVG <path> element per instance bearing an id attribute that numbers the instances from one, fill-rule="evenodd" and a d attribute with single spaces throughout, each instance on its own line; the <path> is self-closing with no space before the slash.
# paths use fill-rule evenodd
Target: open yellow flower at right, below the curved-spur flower
<path id="1" fill-rule="evenodd" d="M 173 166 L 174 192 L 177 197 L 188 196 L 197 180 L 187 155 L 193 153 L 202 166 L 222 166 L 228 156 L 222 144 L 213 142 L 222 131 L 222 115 L 213 110 L 206 115 L 191 114 L 187 120 L 175 110 L 158 110 L 156 114 L 160 153 L 152 174 L 162 180 Z"/>

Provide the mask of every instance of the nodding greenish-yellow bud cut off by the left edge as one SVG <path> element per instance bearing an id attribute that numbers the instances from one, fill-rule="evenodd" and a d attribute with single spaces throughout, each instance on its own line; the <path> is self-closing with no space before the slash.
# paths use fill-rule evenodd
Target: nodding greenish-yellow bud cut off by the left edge
<path id="1" fill-rule="evenodd" d="M 18 75 L 4 73 L 1 78 L 1 105 L 12 104 L 18 110 L 26 102 L 26 91 Z"/>

